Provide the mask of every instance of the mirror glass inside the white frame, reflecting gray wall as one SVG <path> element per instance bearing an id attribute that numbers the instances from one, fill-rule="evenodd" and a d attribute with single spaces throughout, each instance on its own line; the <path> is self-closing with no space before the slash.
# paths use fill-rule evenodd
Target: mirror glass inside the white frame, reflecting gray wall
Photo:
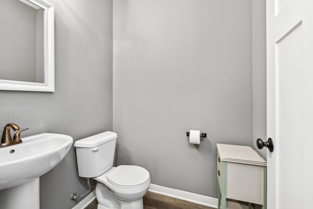
<path id="1" fill-rule="evenodd" d="M 44 13 L 27 0 L 0 0 L 0 79 L 44 83 Z"/>

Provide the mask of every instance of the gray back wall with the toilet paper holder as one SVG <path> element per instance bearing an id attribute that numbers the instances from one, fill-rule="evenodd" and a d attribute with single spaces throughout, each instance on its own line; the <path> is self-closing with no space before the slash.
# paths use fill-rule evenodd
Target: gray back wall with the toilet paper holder
<path id="1" fill-rule="evenodd" d="M 217 197 L 216 143 L 251 145 L 251 42 L 249 0 L 114 0 L 116 163 Z"/>

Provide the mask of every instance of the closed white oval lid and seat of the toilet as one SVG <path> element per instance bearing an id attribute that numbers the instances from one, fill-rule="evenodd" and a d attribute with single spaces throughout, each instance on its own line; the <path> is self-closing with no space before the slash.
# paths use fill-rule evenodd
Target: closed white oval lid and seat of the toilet
<path id="1" fill-rule="evenodd" d="M 136 165 L 119 165 L 107 176 L 108 182 L 118 187 L 141 186 L 150 179 L 149 172 Z"/>

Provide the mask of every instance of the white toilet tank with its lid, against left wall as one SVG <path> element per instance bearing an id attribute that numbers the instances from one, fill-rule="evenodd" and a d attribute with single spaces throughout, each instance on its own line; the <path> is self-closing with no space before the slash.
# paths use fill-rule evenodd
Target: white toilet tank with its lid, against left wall
<path id="1" fill-rule="evenodd" d="M 93 178 L 113 166 L 117 134 L 106 131 L 75 141 L 78 175 Z"/>

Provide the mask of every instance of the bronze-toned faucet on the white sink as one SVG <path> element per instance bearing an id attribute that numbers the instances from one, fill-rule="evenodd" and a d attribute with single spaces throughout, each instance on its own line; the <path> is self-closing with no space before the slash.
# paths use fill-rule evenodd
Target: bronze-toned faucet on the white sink
<path id="1" fill-rule="evenodd" d="M 26 128 L 26 129 L 22 129 L 21 131 L 16 132 L 14 137 L 13 137 L 13 140 L 12 140 L 11 132 L 10 132 L 11 128 L 14 131 L 20 130 L 20 127 L 18 125 L 14 124 L 14 123 L 6 124 L 5 127 L 4 127 L 4 130 L 3 130 L 3 133 L 2 133 L 2 139 L 1 139 L 0 148 L 1 147 L 6 147 L 6 146 L 10 146 L 10 145 L 14 145 L 14 144 L 18 144 L 18 143 L 22 143 L 20 133 L 22 131 L 25 131 L 25 130 L 28 129 L 28 128 Z"/>

